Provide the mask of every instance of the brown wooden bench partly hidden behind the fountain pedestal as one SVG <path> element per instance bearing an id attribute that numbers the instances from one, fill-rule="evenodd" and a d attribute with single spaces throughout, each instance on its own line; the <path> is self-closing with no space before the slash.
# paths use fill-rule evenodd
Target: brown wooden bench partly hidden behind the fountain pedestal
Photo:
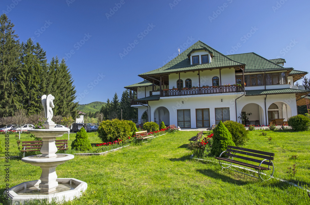
<path id="1" fill-rule="evenodd" d="M 56 140 L 56 147 L 58 150 L 68 150 L 68 140 Z M 24 141 L 22 142 L 21 152 L 40 151 L 43 145 L 43 141 Z"/>

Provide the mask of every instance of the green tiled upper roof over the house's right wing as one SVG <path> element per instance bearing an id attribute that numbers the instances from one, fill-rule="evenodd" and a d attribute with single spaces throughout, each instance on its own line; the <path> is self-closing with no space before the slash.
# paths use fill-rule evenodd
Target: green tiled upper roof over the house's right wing
<path id="1" fill-rule="evenodd" d="M 256 53 L 242 53 L 227 56 L 235 61 L 246 64 L 245 72 L 288 70 Z"/>

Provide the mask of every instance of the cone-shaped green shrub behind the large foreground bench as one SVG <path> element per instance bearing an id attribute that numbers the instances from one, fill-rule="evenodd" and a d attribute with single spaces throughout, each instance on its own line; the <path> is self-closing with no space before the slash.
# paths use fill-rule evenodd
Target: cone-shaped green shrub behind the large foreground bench
<path id="1" fill-rule="evenodd" d="M 222 121 L 213 130 L 213 143 L 211 147 L 211 154 L 219 157 L 219 155 L 227 149 L 228 145 L 236 146 L 232 141 L 232 135 L 225 127 Z M 224 154 L 222 156 L 225 156 Z"/>

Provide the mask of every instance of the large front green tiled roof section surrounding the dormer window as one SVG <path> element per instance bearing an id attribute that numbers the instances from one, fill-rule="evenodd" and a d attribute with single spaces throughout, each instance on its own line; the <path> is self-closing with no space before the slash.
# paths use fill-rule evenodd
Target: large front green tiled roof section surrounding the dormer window
<path id="1" fill-rule="evenodd" d="M 203 47 L 205 47 L 206 50 L 209 50 L 212 53 L 213 57 L 211 59 L 211 62 L 191 65 L 190 59 L 187 57 L 188 54 L 195 49 L 201 50 L 201 48 Z M 186 71 L 195 71 L 211 68 L 233 67 L 239 65 L 241 66 L 244 64 L 228 58 L 227 56 L 221 54 L 217 50 L 211 48 L 210 46 L 204 44 L 201 41 L 197 41 L 195 44 L 193 44 L 193 46 L 190 46 L 188 49 L 186 49 L 180 55 L 169 61 L 169 63 L 167 63 L 163 67 L 155 69 L 153 71 L 142 73 L 139 76 L 173 73 L 173 72 L 186 72 Z"/>

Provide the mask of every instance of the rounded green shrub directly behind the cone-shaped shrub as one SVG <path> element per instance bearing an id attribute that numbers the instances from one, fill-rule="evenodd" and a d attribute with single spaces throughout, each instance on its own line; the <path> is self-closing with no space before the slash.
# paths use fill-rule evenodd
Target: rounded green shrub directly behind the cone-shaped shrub
<path id="1" fill-rule="evenodd" d="M 248 132 L 246 131 L 243 124 L 228 120 L 224 122 L 225 127 L 232 135 L 232 141 L 236 146 L 241 146 L 249 140 Z"/>

